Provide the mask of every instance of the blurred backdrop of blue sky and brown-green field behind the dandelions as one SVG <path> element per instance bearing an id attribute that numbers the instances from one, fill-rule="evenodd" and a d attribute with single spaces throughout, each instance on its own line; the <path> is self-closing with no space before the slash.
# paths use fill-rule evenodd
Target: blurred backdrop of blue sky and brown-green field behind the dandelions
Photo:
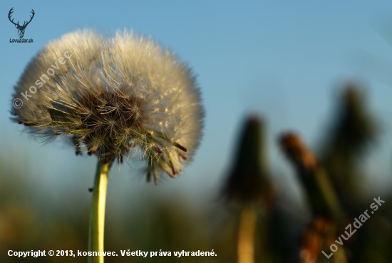
<path id="1" fill-rule="evenodd" d="M 19 38 L 7 17 L 12 7 L 15 21 L 35 11 L 24 35 L 33 43 L 9 43 Z M 83 28 L 105 35 L 133 29 L 170 48 L 197 74 L 206 111 L 200 148 L 177 179 L 155 186 L 145 182 L 140 164 L 112 168 L 105 249 L 215 249 L 218 256 L 107 262 L 237 262 L 239 212 L 219 197 L 249 113 L 265 123 L 264 165 L 276 192 L 274 208 L 259 210 L 256 262 L 299 262 L 301 236 L 312 219 L 277 143 L 287 130 L 301 135 L 331 174 L 339 165 L 350 167 L 337 179 L 331 175 L 347 218 L 360 215 L 374 197 L 385 197 L 366 230 L 343 249 L 348 262 L 392 262 L 391 1 L 1 1 L 0 14 L 0 262 L 86 261 L 6 255 L 9 249 L 87 250 L 96 158 L 76 156 L 63 142 L 42 145 L 9 120 L 13 86 L 26 64 L 49 41 Z M 358 108 L 371 124 L 349 122 L 357 130 L 344 141 L 366 125 L 376 131 L 355 142 L 361 150 L 341 153 L 331 145 L 341 138 L 336 127 L 348 86 L 361 94 Z M 341 180 L 346 177 L 348 182 Z M 277 232 L 266 234 L 274 227 Z M 289 259 L 278 257 L 282 251 Z"/>

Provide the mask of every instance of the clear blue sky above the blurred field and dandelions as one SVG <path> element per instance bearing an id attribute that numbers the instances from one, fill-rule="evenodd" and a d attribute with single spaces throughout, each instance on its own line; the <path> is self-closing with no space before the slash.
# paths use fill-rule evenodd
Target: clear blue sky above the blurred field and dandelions
<path id="1" fill-rule="evenodd" d="M 31 9 L 36 12 L 24 36 L 34 43 L 9 43 L 18 38 L 7 18 L 11 7 L 16 21 L 28 19 Z M 198 195 L 216 189 L 232 158 L 239 124 L 249 112 L 267 120 L 272 165 L 287 170 L 280 165 L 285 161 L 276 136 L 296 130 L 316 143 L 334 110 L 336 87 L 347 78 L 368 83 L 369 104 L 391 135 L 392 81 L 386 68 L 392 67 L 386 62 L 380 69 L 380 61 L 368 61 L 373 56 L 392 61 L 387 41 L 392 39 L 391 1 L 1 1 L 0 14 L 3 158 L 31 182 L 56 191 L 74 187 L 76 181 L 77 189 L 86 190 L 95 160 L 76 158 L 62 143 L 39 145 L 9 121 L 9 110 L 12 87 L 30 59 L 48 41 L 76 29 L 105 35 L 133 29 L 152 36 L 192 67 L 202 90 L 205 135 L 185 175 L 165 180 L 156 190 L 122 167 L 113 172 L 112 191 Z M 391 149 L 386 138 L 385 160 L 391 160 Z M 369 169 L 381 163 L 390 168 L 385 160 L 371 161 Z M 369 182 L 381 185 L 383 180 Z"/>

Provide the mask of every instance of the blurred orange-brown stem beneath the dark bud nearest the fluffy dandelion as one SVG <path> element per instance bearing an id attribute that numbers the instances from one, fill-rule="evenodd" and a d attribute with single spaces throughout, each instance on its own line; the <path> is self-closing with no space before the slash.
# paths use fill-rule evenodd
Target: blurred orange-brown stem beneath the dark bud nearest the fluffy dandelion
<path id="1" fill-rule="evenodd" d="M 254 235 L 257 213 L 247 205 L 241 212 L 238 230 L 238 263 L 254 263 Z"/>

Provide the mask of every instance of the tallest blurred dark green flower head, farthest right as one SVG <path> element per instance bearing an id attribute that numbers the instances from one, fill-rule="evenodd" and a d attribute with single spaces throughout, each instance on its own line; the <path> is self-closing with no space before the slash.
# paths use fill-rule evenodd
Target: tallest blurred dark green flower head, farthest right
<path id="1" fill-rule="evenodd" d="M 346 83 L 339 95 L 337 112 L 324 135 L 319 156 L 344 206 L 351 210 L 361 199 L 361 195 L 354 194 L 361 187 L 361 158 L 375 145 L 381 125 L 368 108 L 361 83 Z"/>

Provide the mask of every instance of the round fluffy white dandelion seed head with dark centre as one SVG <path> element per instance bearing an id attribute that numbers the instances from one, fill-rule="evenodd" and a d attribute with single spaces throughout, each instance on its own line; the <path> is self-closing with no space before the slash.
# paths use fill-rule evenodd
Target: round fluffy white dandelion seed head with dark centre
<path id="1" fill-rule="evenodd" d="M 71 58 L 57 63 L 47 80 L 43 74 L 66 51 Z M 195 76 L 150 38 L 128 31 L 111 39 L 68 33 L 32 59 L 14 98 L 31 86 L 38 91 L 11 110 L 14 121 L 45 141 L 68 136 L 76 154 L 108 162 L 143 158 L 148 180 L 156 182 L 162 171 L 177 175 L 199 145 L 204 113 Z"/>

